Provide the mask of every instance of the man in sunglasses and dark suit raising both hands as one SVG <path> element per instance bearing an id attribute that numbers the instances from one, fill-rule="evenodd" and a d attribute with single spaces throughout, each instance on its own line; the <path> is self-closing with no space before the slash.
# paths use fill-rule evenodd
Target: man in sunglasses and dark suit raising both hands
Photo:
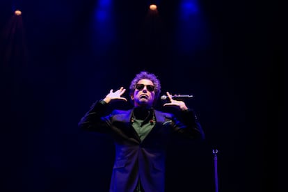
<path id="1" fill-rule="evenodd" d="M 105 114 L 111 101 L 127 102 L 122 97 L 125 88 L 110 90 L 104 99 L 93 104 L 79 127 L 113 136 L 115 163 L 111 192 L 161 192 L 165 186 L 166 146 L 170 135 L 204 138 L 204 134 L 193 111 L 184 102 L 173 99 L 170 93 L 166 93 L 169 102 L 163 106 L 179 109 L 181 121 L 172 113 L 153 108 L 161 92 L 160 81 L 154 74 L 136 74 L 129 88 L 133 109 Z"/>

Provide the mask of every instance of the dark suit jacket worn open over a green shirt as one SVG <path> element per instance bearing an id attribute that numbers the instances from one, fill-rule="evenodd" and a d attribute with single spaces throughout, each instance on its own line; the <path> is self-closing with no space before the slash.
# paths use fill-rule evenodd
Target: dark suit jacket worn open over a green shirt
<path id="1" fill-rule="evenodd" d="M 115 163 L 110 191 L 132 192 L 138 179 L 144 191 L 164 191 L 166 146 L 170 134 L 204 138 L 193 111 L 182 112 L 182 122 L 171 113 L 154 110 L 156 124 L 141 142 L 131 126 L 132 109 L 114 110 L 104 116 L 106 105 L 96 102 L 81 118 L 79 127 L 88 131 L 111 134 L 115 141 Z"/>

